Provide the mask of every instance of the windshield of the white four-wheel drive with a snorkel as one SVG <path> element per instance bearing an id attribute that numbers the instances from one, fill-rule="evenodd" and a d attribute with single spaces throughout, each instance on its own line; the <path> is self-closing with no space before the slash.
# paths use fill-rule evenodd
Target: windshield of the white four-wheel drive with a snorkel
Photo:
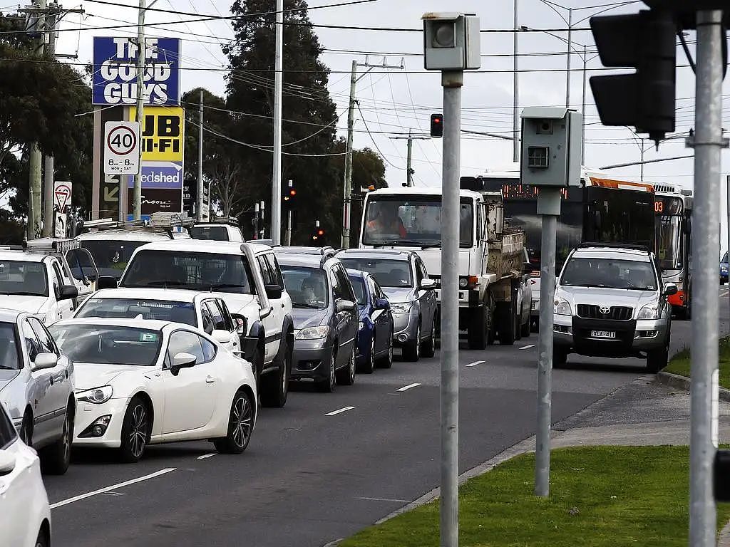
<path id="1" fill-rule="evenodd" d="M 253 276 L 245 255 L 142 249 L 120 287 L 169 287 L 253 295 Z"/>

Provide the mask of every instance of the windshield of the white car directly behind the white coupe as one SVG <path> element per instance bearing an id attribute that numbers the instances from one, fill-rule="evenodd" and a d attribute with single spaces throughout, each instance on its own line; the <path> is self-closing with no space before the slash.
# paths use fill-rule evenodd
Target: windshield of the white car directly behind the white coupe
<path id="1" fill-rule="evenodd" d="M 89 298 L 75 317 L 121 317 L 160 319 L 198 326 L 195 305 L 174 300 L 143 300 L 140 298 Z"/>

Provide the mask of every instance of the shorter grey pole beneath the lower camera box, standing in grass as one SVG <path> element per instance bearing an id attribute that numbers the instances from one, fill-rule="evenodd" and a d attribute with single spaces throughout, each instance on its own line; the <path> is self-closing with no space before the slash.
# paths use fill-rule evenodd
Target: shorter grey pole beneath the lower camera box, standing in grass
<path id="1" fill-rule="evenodd" d="M 540 330 L 537 339 L 537 436 L 535 495 L 550 494 L 550 428 L 553 410 L 553 301 L 560 188 L 540 188 L 537 214 L 542 215 L 540 261 Z"/>

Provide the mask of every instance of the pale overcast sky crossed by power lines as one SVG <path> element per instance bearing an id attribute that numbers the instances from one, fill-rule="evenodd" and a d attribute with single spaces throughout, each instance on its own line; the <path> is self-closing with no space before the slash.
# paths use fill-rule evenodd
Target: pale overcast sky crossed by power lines
<path id="1" fill-rule="evenodd" d="M 310 7 L 336 4 L 342 0 L 311 0 Z M 574 8 L 573 22 L 577 29 L 587 28 L 590 15 L 607 9 L 591 7 L 610 4 L 615 0 L 563 0 L 565 7 Z M 0 0 L 1 4 L 1 0 Z M 77 15 L 67 16 L 62 28 L 84 29 L 99 26 L 137 23 L 137 9 L 123 7 L 124 4 L 137 4 L 134 0 L 115 2 L 115 6 L 84 1 L 86 15 L 80 20 Z M 274 0 L 271 0 L 274 9 Z M 65 3 L 64 7 L 72 7 Z M 155 8 L 175 9 L 180 12 L 193 12 L 200 15 L 230 15 L 228 0 L 158 0 Z M 642 9 L 642 2 L 634 2 L 624 7 L 610 9 L 607 13 L 636 12 Z M 423 1 L 423 0 L 377 0 L 366 4 L 346 7 L 325 7 L 310 9 L 312 23 L 351 25 L 351 26 L 388 26 L 395 28 L 420 28 L 420 16 L 427 11 L 461 11 L 480 16 L 480 26 L 486 28 L 512 28 L 513 2 L 510 0 L 461 0 L 461 1 Z M 519 0 L 518 17 L 520 26 L 529 28 L 566 28 L 563 19 L 568 18 L 567 9 L 550 7 L 542 0 Z M 177 23 L 148 29 L 148 35 L 177 36 L 183 39 L 183 66 L 195 68 L 218 68 L 226 65 L 226 58 L 220 44 L 233 36 L 228 21 L 206 23 L 180 23 L 191 19 L 189 15 L 171 15 L 158 12 L 147 13 L 147 23 Z M 585 19 L 585 20 L 583 20 Z M 177 34 L 195 33 L 204 36 Z M 337 50 L 357 50 L 385 52 L 386 63 L 400 65 L 401 57 L 405 71 L 373 69 L 375 74 L 367 74 L 357 86 L 357 98 L 364 114 L 364 120 L 356 117 L 356 147 L 377 148 L 387 160 L 387 179 L 390 185 L 399 185 L 405 180 L 406 141 L 388 138 L 382 132 L 407 132 L 423 134 L 428 131 L 429 115 L 440 112 L 442 88 L 438 74 L 423 72 L 423 58 L 415 55 L 423 49 L 423 37 L 418 32 L 355 31 L 329 28 L 315 28 L 326 52 L 323 61 L 332 70 L 330 93 L 337 104 L 339 133 L 347 124 L 347 95 L 349 93 L 349 72 L 353 59 L 365 63 L 362 54 L 341 53 Z M 75 53 L 79 60 L 91 61 L 91 42 L 98 36 L 130 36 L 134 28 L 117 30 L 81 30 L 61 32 L 58 53 Z M 521 106 L 564 106 L 566 96 L 565 42 L 567 33 L 550 36 L 542 33 L 520 33 L 519 104 Z M 512 131 L 512 34 L 481 34 L 483 55 L 504 55 L 482 58 L 482 69 L 466 74 L 463 92 L 462 127 L 470 131 L 484 131 L 510 135 Z M 692 31 L 687 39 L 694 42 Z M 590 31 L 575 30 L 572 33 L 574 47 L 583 52 L 588 49 L 588 76 L 606 74 L 600 69 L 596 57 L 593 36 Z M 694 55 L 694 44 L 690 44 Z M 526 55 L 529 53 L 552 53 L 553 55 Z M 287 68 L 284 52 L 284 69 Z M 370 63 L 382 63 L 383 54 L 369 55 Z M 681 48 L 677 49 L 677 65 L 686 65 L 687 60 Z M 570 96 L 571 106 L 582 108 L 583 59 L 572 55 Z M 535 69 L 553 69 L 550 72 L 530 72 Z M 360 68 L 358 71 L 366 69 Z M 419 71 L 410 73 L 407 71 Z M 504 71 L 504 72 L 494 72 Z M 223 71 L 183 71 L 183 91 L 203 85 L 215 93 L 223 94 Z M 677 69 L 677 133 L 685 133 L 694 123 L 694 74 L 689 68 Z M 726 86 L 728 84 L 726 83 Z M 724 93 L 727 93 L 725 90 Z M 585 164 L 594 168 L 615 163 L 628 163 L 640 158 L 640 148 L 634 134 L 626 128 L 604 128 L 599 123 L 590 87 L 586 94 L 585 109 L 586 158 Z M 357 114 L 357 113 L 356 113 Z M 286 117 L 286 112 L 283 113 Z M 723 123 L 729 123 L 726 116 Z M 372 136 L 366 131 L 372 131 Z M 376 133 L 377 132 L 377 133 Z M 374 139 L 374 143 L 372 141 Z M 645 141 L 645 159 L 666 158 L 686 155 L 683 139 L 675 139 L 661 144 L 655 152 L 649 141 Z M 462 174 L 478 174 L 487 168 L 498 168 L 512 161 L 512 143 L 499 139 L 484 139 L 479 136 L 465 137 L 461 144 Z M 415 141 L 413 146 L 413 168 L 415 185 L 440 185 L 441 142 L 437 139 Z M 650 182 L 665 182 L 692 187 L 692 160 L 675 160 L 664 163 L 651 163 L 645 166 L 644 179 Z M 723 162 L 723 181 L 728 169 Z M 616 176 L 639 179 L 639 167 L 613 169 Z M 724 187 L 725 185 L 723 185 Z M 723 216 L 726 198 L 723 190 Z M 724 221 L 723 221 L 724 226 Z M 726 239 L 723 236 L 723 239 Z M 726 247 L 726 244 L 723 244 Z"/>

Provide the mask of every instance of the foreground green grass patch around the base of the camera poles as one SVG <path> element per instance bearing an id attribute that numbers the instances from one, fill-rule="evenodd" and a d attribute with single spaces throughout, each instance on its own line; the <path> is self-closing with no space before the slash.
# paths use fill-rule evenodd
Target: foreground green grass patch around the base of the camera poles
<path id="1" fill-rule="evenodd" d="M 461 486 L 462 547 L 685 547 L 687 446 L 597 446 L 553 451 L 551 492 L 533 495 L 534 454 L 523 454 Z M 730 504 L 718 508 L 718 530 Z M 437 547 L 435 500 L 340 547 Z"/>

